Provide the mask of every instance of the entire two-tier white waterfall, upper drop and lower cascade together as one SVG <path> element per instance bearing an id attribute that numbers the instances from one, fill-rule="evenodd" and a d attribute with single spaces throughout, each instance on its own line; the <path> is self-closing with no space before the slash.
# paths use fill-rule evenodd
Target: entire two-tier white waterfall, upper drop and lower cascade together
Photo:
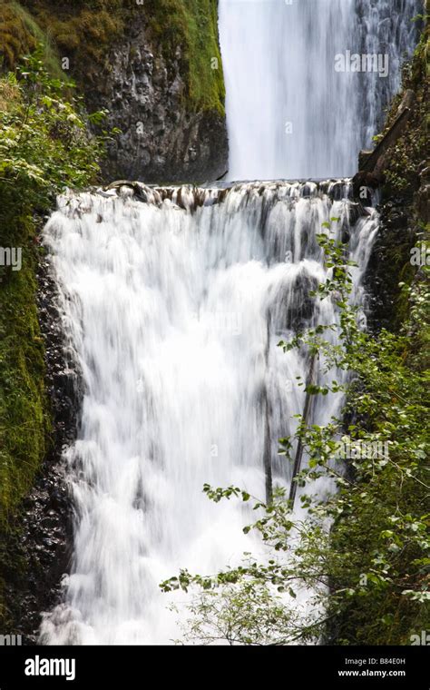
<path id="1" fill-rule="evenodd" d="M 202 487 L 264 498 L 270 467 L 288 488 L 278 439 L 295 430 L 309 362 L 277 344 L 337 320 L 331 298 L 311 295 L 327 278 L 318 232 L 347 242 L 363 304 L 378 217 L 343 176 L 399 86 L 419 5 L 220 0 L 230 178 L 337 181 L 134 183 L 59 198 L 44 242 L 83 405 L 65 453 L 73 564 L 63 603 L 44 615 L 44 644 L 169 643 L 177 615 L 160 582 L 259 551 L 242 529 L 249 508 L 215 505 Z M 389 73 L 337 72 L 346 51 L 388 54 Z M 340 405 L 317 399 L 314 423 Z M 327 488 L 320 479 L 313 490 Z"/>

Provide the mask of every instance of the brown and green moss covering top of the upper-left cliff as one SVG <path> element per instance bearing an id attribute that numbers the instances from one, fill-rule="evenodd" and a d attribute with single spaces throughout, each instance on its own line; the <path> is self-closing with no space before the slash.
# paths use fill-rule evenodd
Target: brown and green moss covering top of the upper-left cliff
<path id="1" fill-rule="evenodd" d="M 217 0 L 8 0 L 5 20 L 5 66 L 13 67 L 36 43 L 46 44 L 54 74 L 69 59 L 71 74 L 82 84 L 97 84 L 109 69 L 107 58 L 130 23 L 142 21 L 167 64 L 178 59 L 187 84 L 190 111 L 224 115 L 225 87 L 218 41 Z M 1 17 L 1 14 L 0 14 Z M 1 34 L 0 34 L 1 35 Z"/>

